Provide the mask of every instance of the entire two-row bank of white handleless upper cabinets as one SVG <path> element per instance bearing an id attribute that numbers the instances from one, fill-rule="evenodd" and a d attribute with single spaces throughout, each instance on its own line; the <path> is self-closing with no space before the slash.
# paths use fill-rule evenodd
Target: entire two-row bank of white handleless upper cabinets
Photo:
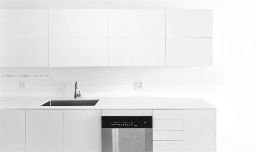
<path id="1" fill-rule="evenodd" d="M 1 66 L 212 66 L 211 9 L 1 11 Z"/>

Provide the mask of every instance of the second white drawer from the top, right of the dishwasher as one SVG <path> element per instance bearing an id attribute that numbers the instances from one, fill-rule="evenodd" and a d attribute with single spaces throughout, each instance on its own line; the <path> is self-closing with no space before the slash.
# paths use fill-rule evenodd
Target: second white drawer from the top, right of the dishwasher
<path id="1" fill-rule="evenodd" d="M 184 120 L 153 120 L 153 130 L 184 130 Z"/>

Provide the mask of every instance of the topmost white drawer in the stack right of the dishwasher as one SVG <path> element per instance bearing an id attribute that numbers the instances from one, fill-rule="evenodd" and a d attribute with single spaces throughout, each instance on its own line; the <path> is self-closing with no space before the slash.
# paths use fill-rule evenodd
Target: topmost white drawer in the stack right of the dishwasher
<path id="1" fill-rule="evenodd" d="M 153 110 L 153 120 L 184 120 L 184 110 Z"/>

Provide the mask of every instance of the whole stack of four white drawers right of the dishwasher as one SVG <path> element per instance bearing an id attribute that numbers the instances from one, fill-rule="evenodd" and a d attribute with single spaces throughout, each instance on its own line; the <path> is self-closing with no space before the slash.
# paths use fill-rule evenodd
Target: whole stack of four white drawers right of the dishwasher
<path id="1" fill-rule="evenodd" d="M 184 110 L 153 110 L 153 152 L 184 152 Z"/>

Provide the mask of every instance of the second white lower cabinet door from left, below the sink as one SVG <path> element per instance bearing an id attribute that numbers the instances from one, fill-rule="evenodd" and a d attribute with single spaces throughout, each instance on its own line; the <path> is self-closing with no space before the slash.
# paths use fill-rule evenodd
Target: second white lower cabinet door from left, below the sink
<path id="1" fill-rule="evenodd" d="M 63 152 L 63 110 L 26 110 L 26 152 Z"/>

